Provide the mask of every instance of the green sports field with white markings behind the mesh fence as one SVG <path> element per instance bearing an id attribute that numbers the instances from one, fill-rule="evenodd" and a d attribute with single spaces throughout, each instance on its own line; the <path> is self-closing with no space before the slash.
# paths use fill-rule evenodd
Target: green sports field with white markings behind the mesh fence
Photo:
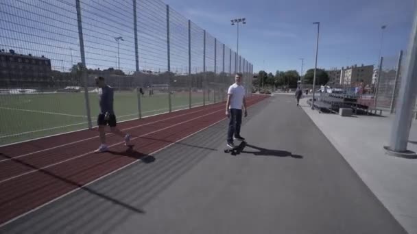
<path id="1" fill-rule="evenodd" d="M 91 119 L 96 125 L 99 113 L 98 95 L 89 93 Z M 219 99 L 217 99 L 219 101 Z M 217 102 L 216 101 L 216 102 Z M 141 97 L 142 116 L 168 112 L 168 94 Z M 189 107 L 189 93 L 171 95 L 172 109 Z M 193 106 L 202 105 L 203 94 L 193 92 Z M 206 96 L 206 104 L 213 96 Z M 136 92 L 115 92 L 117 121 L 138 118 Z M 87 117 L 84 93 L 1 94 L 0 95 L 0 145 L 21 142 L 68 131 L 86 129 Z"/>

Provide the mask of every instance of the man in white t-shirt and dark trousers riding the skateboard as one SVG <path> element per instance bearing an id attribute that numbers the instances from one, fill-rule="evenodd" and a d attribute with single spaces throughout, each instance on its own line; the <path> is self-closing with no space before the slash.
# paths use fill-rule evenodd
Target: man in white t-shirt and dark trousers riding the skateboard
<path id="1" fill-rule="evenodd" d="M 229 128 L 227 133 L 227 146 L 234 148 L 233 136 L 235 140 L 244 141 L 240 135 L 240 125 L 242 123 L 242 105 L 245 108 L 245 117 L 248 116 L 245 100 L 245 88 L 241 85 L 242 75 L 237 73 L 235 76 L 236 83 L 233 83 L 228 89 L 226 102 L 226 116 L 229 118 Z"/>

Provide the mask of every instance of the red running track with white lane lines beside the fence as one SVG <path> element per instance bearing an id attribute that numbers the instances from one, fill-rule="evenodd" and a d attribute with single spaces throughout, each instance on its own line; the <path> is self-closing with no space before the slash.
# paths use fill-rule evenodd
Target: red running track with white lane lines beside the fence
<path id="1" fill-rule="evenodd" d="M 248 106 L 267 98 L 254 95 Z M 0 224 L 64 196 L 223 120 L 224 103 L 195 107 L 118 127 L 132 135 L 134 149 L 108 133 L 108 153 L 95 154 L 97 130 L 76 131 L 0 148 Z"/>

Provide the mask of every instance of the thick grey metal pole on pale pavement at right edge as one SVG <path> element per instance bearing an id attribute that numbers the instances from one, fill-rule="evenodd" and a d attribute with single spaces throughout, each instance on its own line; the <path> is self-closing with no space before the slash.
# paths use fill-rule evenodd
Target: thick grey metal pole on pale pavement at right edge
<path id="1" fill-rule="evenodd" d="M 384 148 L 399 156 L 416 157 L 415 153 L 407 151 L 407 144 L 412 124 L 412 110 L 417 96 L 417 6 L 414 8 L 414 23 L 405 59 L 401 89 L 392 124 L 390 146 Z"/>

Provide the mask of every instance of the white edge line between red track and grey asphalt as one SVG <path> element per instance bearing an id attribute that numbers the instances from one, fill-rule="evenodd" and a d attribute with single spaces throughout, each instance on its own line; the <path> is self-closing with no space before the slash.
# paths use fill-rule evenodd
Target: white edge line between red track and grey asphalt
<path id="1" fill-rule="evenodd" d="M 207 127 L 204 127 L 204 129 L 200 129 L 200 130 L 196 131 L 195 133 L 191 133 L 191 134 L 185 136 L 184 138 L 182 138 L 180 140 L 177 140 L 176 142 L 173 142 L 171 144 L 168 144 L 167 146 L 164 146 L 163 148 L 160 148 L 160 149 L 158 149 L 158 150 L 150 153 L 149 155 L 154 155 L 154 154 L 156 154 L 156 153 L 158 153 L 160 151 L 163 151 L 165 148 L 168 148 L 169 146 L 172 146 L 174 144 L 177 144 L 178 142 L 182 142 L 183 140 L 191 137 L 192 135 L 195 135 L 197 133 L 200 133 L 201 131 L 204 131 L 204 130 L 208 129 L 209 127 L 213 127 L 214 125 L 217 125 L 217 123 L 222 122 L 224 119 L 226 119 L 226 118 L 222 118 L 222 120 L 219 120 L 219 121 L 213 123 L 213 125 L 208 125 Z M 91 184 L 93 184 L 93 183 L 95 183 L 95 182 L 97 182 L 97 181 L 99 181 L 101 179 L 104 179 L 104 178 L 110 176 L 111 174 L 115 174 L 116 172 L 119 172 L 119 170 L 123 170 L 124 168 L 128 168 L 129 166 L 132 166 L 133 164 L 140 163 L 140 162 L 142 162 L 141 159 L 134 160 L 130 164 L 126 164 L 125 166 L 122 166 L 121 168 L 118 168 L 116 170 L 113 170 L 112 172 L 109 172 L 108 174 L 104 174 L 104 175 L 102 175 L 102 177 L 99 177 L 99 178 L 97 178 L 97 179 L 95 179 L 93 181 L 90 181 L 90 182 L 88 182 L 88 183 L 86 183 L 86 184 L 84 184 L 84 185 L 82 185 L 80 187 L 77 187 L 77 188 L 75 188 L 75 189 L 73 189 L 73 190 L 71 190 L 71 191 L 69 191 L 69 192 L 67 192 L 65 194 L 62 194 L 61 196 L 58 196 L 57 198 L 53 198 L 52 200 L 49 200 L 47 203 L 44 203 L 43 205 L 40 205 L 38 207 L 35 207 L 34 209 L 31 209 L 29 211 L 26 211 L 25 213 L 22 213 L 20 216 L 16 216 L 16 217 L 12 218 L 11 220 L 8 220 L 6 222 L 3 222 L 2 224 L 0 224 L 0 228 L 3 227 L 3 226 L 5 226 L 5 225 L 7 225 L 7 224 L 10 224 L 10 223 L 14 222 L 15 220 L 19 220 L 19 218 L 22 218 L 24 216 L 27 216 L 29 213 L 33 213 L 34 211 L 37 211 L 38 209 L 41 209 L 43 207 L 46 207 L 47 205 L 49 205 L 51 203 L 54 203 L 55 201 L 60 200 L 61 198 L 64 198 L 65 196 L 68 196 L 70 194 L 73 194 L 73 192 L 77 192 L 78 190 L 81 190 L 83 187 L 86 187 L 86 186 L 91 185 Z"/>

